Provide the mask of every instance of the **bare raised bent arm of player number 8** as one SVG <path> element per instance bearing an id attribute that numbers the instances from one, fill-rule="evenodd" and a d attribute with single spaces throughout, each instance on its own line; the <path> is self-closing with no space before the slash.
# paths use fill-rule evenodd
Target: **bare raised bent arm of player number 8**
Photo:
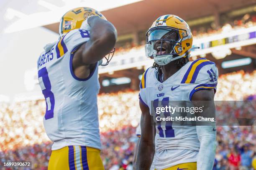
<path id="1" fill-rule="evenodd" d="M 87 28 L 90 28 L 90 40 L 84 43 L 74 56 L 81 57 L 84 65 L 100 61 L 113 50 L 117 39 L 116 29 L 109 21 L 95 15 L 87 19 L 87 24 Z"/>

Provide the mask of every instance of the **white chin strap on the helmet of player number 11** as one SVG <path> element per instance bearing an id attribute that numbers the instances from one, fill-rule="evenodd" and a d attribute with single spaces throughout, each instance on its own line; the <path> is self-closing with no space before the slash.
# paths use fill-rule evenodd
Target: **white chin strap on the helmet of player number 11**
<path id="1" fill-rule="evenodd" d="M 189 52 L 189 51 L 191 51 L 191 50 L 193 50 L 193 49 L 198 49 L 198 48 L 199 48 L 199 47 L 192 47 L 192 48 L 190 48 L 187 52 Z M 154 51 L 156 51 L 156 50 L 154 50 Z M 161 55 L 161 56 L 156 56 L 156 54 L 154 55 L 154 52 L 153 52 L 153 56 L 154 56 L 154 61 L 155 61 L 159 66 L 164 66 L 164 65 L 170 63 L 171 61 L 174 61 L 174 60 L 177 60 L 177 59 L 179 59 L 179 58 L 182 58 L 182 57 L 186 56 L 187 52 L 184 53 L 183 55 L 177 56 L 177 57 L 174 57 L 173 55 Z M 190 54 L 189 54 L 188 57 L 190 57 Z M 159 59 L 160 59 L 160 61 L 159 61 Z"/>

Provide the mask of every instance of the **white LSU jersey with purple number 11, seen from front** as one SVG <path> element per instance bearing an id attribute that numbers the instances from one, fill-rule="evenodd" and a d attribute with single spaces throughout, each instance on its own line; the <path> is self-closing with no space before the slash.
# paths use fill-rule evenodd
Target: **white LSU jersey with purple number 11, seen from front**
<path id="1" fill-rule="evenodd" d="M 200 58 L 186 63 L 179 71 L 162 81 L 157 69 L 148 68 L 140 83 L 140 101 L 150 109 L 151 101 L 190 101 L 201 89 L 216 91 L 218 69 L 215 63 Z M 152 106 L 159 107 L 157 106 Z M 162 106 L 164 107 L 164 106 Z M 154 115 L 151 115 L 154 116 Z M 196 126 L 156 126 L 156 169 L 164 169 L 186 162 L 197 162 L 200 142 Z"/>

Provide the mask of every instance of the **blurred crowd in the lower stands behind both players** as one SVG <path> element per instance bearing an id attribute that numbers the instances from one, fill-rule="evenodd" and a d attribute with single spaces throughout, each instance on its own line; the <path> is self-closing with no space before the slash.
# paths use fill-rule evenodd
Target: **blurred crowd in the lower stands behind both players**
<path id="1" fill-rule="evenodd" d="M 256 71 L 238 71 L 220 76 L 215 100 L 254 99 L 255 94 Z M 100 94 L 98 107 L 106 170 L 131 170 L 140 118 L 138 91 Z M 227 109 L 217 107 L 223 114 Z M 0 103 L 0 166 L 26 160 L 32 161 L 33 169 L 47 169 L 51 142 L 43 127 L 44 112 L 44 100 Z M 255 137 L 254 126 L 219 126 L 215 170 L 250 170 L 252 162 L 256 164 Z"/>

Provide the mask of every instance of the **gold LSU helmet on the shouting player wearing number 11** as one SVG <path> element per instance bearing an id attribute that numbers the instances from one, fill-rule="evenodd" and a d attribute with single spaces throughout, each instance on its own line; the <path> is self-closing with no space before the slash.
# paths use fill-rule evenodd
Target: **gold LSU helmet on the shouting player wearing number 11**
<path id="1" fill-rule="evenodd" d="M 189 25 L 176 15 L 163 15 L 154 21 L 146 33 L 146 56 L 158 65 L 189 57 L 193 36 Z M 197 48 L 197 47 L 196 47 Z"/>

